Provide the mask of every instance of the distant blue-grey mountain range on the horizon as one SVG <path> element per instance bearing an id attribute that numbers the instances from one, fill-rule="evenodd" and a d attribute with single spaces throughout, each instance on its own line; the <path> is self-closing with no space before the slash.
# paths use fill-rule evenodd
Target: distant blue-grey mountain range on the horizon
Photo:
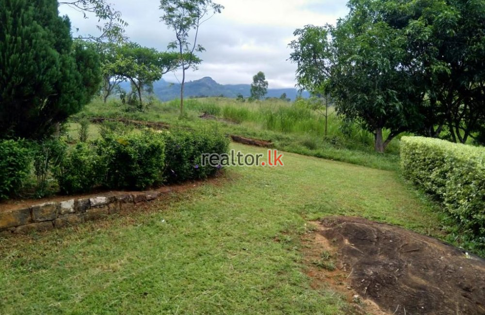
<path id="1" fill-rule="evenodd" d="M 121 87 L 124 90 L 130 89 L 129 82 L 122 82 Z M 229 98 L 236 98 L 238 94 L 242 94 L 244 98 L 251 95 L 250 84 L 219 84 L 210 77 L 185 82 L 185 97 L 204 97 L 204 96 L 221 96 Z M 161 101 L 169 101 L 180 97 L 180 84 L 170 83 L 161 79 L 153 83 L 153 93 Z M 266 97 L 280 97 L 281 94 L 286 93 L 286 97 L 294 100 L 298 95 L 298 91 L 294 88 L 288 89 L 268 89 Z M 303 92 L 303 97 L 309 97 L 307 92 Z"/>

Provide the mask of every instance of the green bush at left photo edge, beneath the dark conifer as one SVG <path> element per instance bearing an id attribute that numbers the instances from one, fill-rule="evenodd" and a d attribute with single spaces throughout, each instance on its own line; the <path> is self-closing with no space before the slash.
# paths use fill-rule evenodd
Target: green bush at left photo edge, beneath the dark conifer
<path id="1" fill-rule="evenodd" d="M 0 141 L 0 199 L 17 193 L 30 173 L 31 163 L 28 142 Z"/>

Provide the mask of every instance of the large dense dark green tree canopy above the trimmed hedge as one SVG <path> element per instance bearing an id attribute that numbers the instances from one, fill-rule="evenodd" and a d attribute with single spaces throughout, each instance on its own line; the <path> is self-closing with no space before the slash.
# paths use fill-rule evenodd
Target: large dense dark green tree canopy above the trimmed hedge
<path id="1" fill-rule="evenodd" d="M 290 43 L 300 88 L 330 93 L 339 115 L 375 135 L 465 142 L 484 127 L 483 0 L 351 0 L 335 27 L 306 26 Z M 383 139 L 383 130 L 388 137 Z"/>

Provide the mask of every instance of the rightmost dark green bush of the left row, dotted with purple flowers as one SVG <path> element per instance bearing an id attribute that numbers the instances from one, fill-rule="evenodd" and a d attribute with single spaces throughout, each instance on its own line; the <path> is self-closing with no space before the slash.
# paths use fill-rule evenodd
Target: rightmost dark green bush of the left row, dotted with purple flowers
<path id="1" fill-rule="evenodd" d="M 203 179 L 214 175 L 218 168 L 202 166 L 202 154 L 223 154 L 229 148 L 229 139 L 217 131 L 174 129 L 163 136 L 166 153 L 164 175 L 169 182 Z"/>

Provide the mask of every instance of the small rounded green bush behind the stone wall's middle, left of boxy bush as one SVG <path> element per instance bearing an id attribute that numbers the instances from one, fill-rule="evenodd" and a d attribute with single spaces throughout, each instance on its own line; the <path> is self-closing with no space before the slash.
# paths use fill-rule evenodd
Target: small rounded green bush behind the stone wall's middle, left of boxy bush
<path id="1" fill-rule="evenodd" d="M 88 192 L 102 181 L 106 165 L 91 145 L 80 142 L 65 154 L 54 173 L 64 194 Z"/>

